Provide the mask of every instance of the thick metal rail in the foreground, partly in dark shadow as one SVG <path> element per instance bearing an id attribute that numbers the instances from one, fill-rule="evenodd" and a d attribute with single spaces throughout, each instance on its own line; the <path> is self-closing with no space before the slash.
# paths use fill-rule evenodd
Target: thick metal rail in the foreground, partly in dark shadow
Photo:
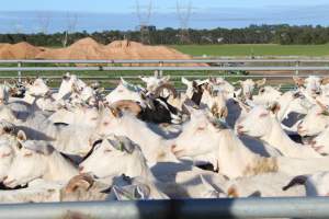
<path id="1" fill-rule="evenodd" d="M 328 218 L 329 199 L 240 198 L 0 205 L 0 219 Z"/>

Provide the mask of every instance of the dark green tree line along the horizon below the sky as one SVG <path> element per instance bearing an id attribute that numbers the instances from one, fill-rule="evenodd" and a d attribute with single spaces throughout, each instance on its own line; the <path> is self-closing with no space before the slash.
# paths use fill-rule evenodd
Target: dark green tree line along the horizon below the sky
<path id="1" fill-rule="evenodd" d="M 141 37 L 143 35 L 143 37 Z M 145 37 L 146 35 L 146 37 Z M 36 46 L 63 47 L 84 37 L 92 37 L 99 43 L 109 44 L 113 41 L 129 39 L 151 45 L 174 44 L 326 44 L 329 43 L 329 27 L 326 26 L 292 26 L 281 25 L 250 25 L 243 28 L 213 28 L 213 30 L 177 30 L 162 28 L 147 32 L 140 31 L 103 31 L 88 33 L 54 33 L 54 34 L 0 34 L 1 43 L 27 42 Z M 66 41 L 64 45 L 64 39 Z"/>

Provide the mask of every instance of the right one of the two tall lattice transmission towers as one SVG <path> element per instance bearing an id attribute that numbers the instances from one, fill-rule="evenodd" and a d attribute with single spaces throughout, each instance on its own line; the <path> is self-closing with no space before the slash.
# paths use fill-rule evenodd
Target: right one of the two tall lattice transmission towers
<path id="1" fill-rule="evenodd" d="M 189 22 L 192 13 L 192 2 L 189 1 L 186 5 L 182 5 L 179 0 L 177 0 L 177 14 L 180 20 L 181 28 L 180 28 L 180 38 L 182 44 L 190 43 L 190 34 L 189 34 Z"/>

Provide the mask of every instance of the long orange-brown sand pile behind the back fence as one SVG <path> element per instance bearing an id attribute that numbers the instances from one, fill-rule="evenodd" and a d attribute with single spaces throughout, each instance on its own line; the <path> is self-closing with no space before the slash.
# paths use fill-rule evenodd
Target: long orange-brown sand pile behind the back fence
<path id="1" fill-rule="evenodd" d="M 27 43 L 0 44 L 0 59 L 191 59 L 173 48 L 115 41 L 109 45 L 82 38 L 66 48 L 35 47 Z M 185 65 L 191 66 L 191 65 Z M 193 66 L 193 65 L 192 65 Z M 195 65 L 194 65 L 195 66 Z"/>

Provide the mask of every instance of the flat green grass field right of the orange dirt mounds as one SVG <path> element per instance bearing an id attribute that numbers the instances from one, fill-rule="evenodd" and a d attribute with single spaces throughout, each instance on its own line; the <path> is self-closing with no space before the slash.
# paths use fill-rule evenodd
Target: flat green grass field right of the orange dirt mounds
<path id="1" fill-rule="evenodd" d="M 175 45 L 173 48 L 192 56 L 329 56 L 329 44 L 325 45 Z"/>

